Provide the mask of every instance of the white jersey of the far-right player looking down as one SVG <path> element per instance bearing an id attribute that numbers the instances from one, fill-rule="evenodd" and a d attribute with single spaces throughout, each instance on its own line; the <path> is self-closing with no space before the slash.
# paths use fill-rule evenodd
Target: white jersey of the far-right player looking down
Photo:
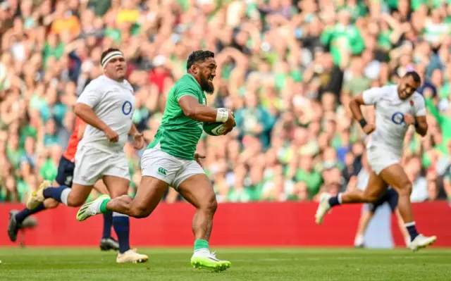
<path id="1" fill-rule="evenodd" d="M 383 147 L 402 155 L 402 144 L 408 128 L 404 123 L 404 114 L 426 115 L 423 96 L 414 92 L 402 100 L 397 94 L 397 85 L 367 89 L 362 95 L 364 103 L 373 104 L 376 109 L 376 129 L 371 134 L 368 147 Z"/>

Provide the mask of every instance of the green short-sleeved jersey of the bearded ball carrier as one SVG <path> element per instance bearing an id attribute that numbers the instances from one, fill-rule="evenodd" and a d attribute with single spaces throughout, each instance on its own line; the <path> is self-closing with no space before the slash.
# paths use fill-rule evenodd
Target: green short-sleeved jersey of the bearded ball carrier
<path id="1" fill-rule="evenodd" d="M 192 75 L 183 75 L 169 91 L 161 125 L 147 149 L 159 148 L 172 156 L 194 160 L 197 142 L 202 135 L 202 122 L 183 113 L 178 100 L 185 95 L 194 96 L 199 104 L 206 104 L 206 96 L 199 83 Z"/>

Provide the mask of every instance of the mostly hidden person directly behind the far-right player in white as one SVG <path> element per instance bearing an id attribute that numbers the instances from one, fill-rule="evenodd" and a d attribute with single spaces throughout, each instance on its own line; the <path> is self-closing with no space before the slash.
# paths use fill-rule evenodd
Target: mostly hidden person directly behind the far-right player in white
<path id="1" fill-rule="evenodd" d="M 371 173 L 371 168 L 369 167 L 368 159 L 366 158 L 366 152 L 362 154 L 362 169 L 359 171 L 357 176 L 353 175 L 347 185 L 347 192 L 352 192 L 355 189 L 364 191 L 368 185 L 369 176 Z M 363 206 L 363 213 L 360 216 L 359 225 L 357 226 L 357 233 L 354 239 L 354 246 L 357 248 L 362 248 L 365 246 L 364 236 L 366 228 L 373 218 L 376 210 L 385 204 L 385 202 L 390 206 L 392 213 L 396 214 L 397 222 L 400 225 L 400 230 L 406 245 L 410 242 L 409 232 L 407 232 L 404 227 L 404 221 L 402 221 L 400 211 L 397 209 L 398 195 L 395 189 L 388 187 L 388 189 L 383 193 L 381 197 L 376 202 L 366 203 Z"/>

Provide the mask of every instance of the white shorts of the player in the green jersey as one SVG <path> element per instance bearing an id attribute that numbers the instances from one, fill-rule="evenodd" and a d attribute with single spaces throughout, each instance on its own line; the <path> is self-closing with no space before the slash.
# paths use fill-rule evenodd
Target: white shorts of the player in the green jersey
<path id="1" fill-rule="evenodd" d="M 204 174 L 204 169 L 194 160 L 185 160 L 160 149 L 147 149 L 141 158 L 141 174 L 156 177 L 175 189 L 188 177 Z"/>

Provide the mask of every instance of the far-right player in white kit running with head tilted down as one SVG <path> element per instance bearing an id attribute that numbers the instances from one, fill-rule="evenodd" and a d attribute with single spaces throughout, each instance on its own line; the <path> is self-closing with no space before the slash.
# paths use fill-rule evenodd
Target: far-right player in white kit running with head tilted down
<path id="1" fill-rule="evenodd" d="M 369 183 L 364 191 L 353 190 L 338 196 L 321 194 L 315 215 L 317 224 L 322 223 L 330 208 L 340 204 L 377 201 L 388 186 L 392 186 L 399 194 L 398 208 L 409 232 L 408 247 L 415 251 L 435 242 L 437 237 L 426 237 L 416 231 L 410 203 L 412 182 L 400 165 L 404 136 L 409 125 L 414 126 L 421 136 L 426 135 L 428 131 L 424 98 L 416 92 L 420 84 L 418 73 L 409 72 L 400 78 L 397 85 L 368 89 L 350 101 L 355 120 L 359 121 L 367 135 L 373 133 L 367 146 L 367 156 L 372 169 Z M 377 127 L 366 123 L 360 109 L 360 106 L 365 105 L 375 106 Z"/>

